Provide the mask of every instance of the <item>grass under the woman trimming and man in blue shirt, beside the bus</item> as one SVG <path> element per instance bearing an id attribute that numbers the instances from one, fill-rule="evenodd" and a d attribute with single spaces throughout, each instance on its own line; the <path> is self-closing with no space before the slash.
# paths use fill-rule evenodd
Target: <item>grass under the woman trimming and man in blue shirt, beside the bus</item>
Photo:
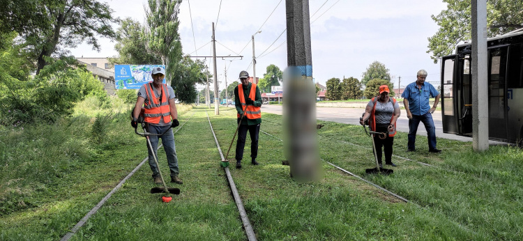
<path id="1" fill-rule="evenodd" d="M 277 120 L 273 123 L 279 126 L 281 122 Z M 449 222 L 473 233 L 476 238 L 522 238 L 521 149 L 491 146 L 485 153 L 474 153 L 471 143 L 438 139 L 438 146 L 444 153 L 433 154 L 423 147 L 426 145 L 426 137 L 420 136 L 417 141 L 418 151 L 407 153 L 404 151 L 407 133 L 399 132 L 395 137 L 395 155 L 408 156 L 434 166 L 423 166 L 393 157 L 393 162 L 399 166 L 386 166 L 394 169 L 393 175 L 366 175 L 365 168 L 374 166 L 372 149 L 337 141 L 372 147 L 371 139 L 365 135 L 363 127 L 321 123 L 325 126 L 318 130 L 319 149 L 325 160 L 404 196 L 434 215 L 446 217 Z"/>

